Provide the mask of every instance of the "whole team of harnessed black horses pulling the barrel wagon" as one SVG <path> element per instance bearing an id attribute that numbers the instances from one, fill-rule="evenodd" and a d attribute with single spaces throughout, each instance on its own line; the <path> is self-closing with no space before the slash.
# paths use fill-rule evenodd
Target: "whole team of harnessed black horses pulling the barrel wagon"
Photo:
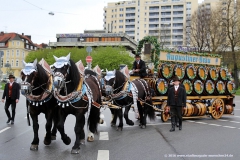
<path id="1" fill-rule="evenodd" d="M 154 109 L 148 84 L 143 79 L 129 81 L 125 72 L 107 71 L 104 83 L 100 75 L 91 70 L 85 70 L 81 61 L 74 63 L 70 54 L 66 57 L 55 57 L 51 66 L 42 59 L 37 63 L 24 62 L 21 71 L 21 93 L 26 97 L 26 106 L 32 118 L 34 138 L 30 150 L 38 150 L 38 115 L 45 114 L 46 135 L 44 144 L 50 145 L 56 139 L 57 130 L 62 141 L 69 145 L 71 138 L 67 136 L 64 123 L 69 114 L 76 118 L 74 131 L 76 140 L 72 147 L 72 154 L 79 154 L 80 144 L 85 143 L 85 120 L 88 124 L 87 141 L 94 141 L 97 126 L 102 123 L 100 109 L 110 104 L 112 113 L 111 125 L 116 125 L 119 118 L 118 130 L 123 128 L 123 117 L 126 124 L 134 125 L 129 119 L 128 112 L 134 106 L 139 115 L 141 128 L 146 128 L 146 118 L 154 119 Z M 117 108 L 117 109 L 116 109 Z M 123 108 L 125 108 L 123 114 Z"/>

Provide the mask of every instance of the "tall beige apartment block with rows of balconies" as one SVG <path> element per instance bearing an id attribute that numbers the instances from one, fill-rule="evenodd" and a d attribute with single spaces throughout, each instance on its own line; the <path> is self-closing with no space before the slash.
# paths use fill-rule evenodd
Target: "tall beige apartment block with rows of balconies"
<path id="1" fill-rule="evenodd" d="M 136 41 L 151 35 L 163 48 L 186 45 L 185 23 L 198 0 L 132 0 L 104 7 L 104 29 L 126 33 Z"/>

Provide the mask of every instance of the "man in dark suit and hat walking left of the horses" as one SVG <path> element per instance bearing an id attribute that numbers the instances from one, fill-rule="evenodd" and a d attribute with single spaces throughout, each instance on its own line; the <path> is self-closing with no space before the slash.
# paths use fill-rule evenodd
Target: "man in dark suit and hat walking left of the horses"
<path id="1" fill-rule="evenodd" d="M 14 82 L 14 79 L 15 77 L 13 75 L 9 75 L 9 83 L 5 85 L 2 96 L 2 102 L 4 102 L 6 98 L 5 112 L 8 117 L 7 123 L 11 121 L 11 124 L 14 124 L 16 103 L 18 103 L 20 96 L 20 86 L 18 83 Z M 12 116 L 8 110 L 10 105 L 12 107 Z"/>

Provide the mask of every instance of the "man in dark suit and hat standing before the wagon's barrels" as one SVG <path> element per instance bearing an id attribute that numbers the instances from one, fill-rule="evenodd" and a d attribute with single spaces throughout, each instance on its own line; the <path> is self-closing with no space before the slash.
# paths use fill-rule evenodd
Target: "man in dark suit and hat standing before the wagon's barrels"
<path id="1" fill-rule="evenodd" d="M 180 85 L 178 77 L 173 78 L 173 86 L 168 90 L 167 106 L 170 107 L 171 125 L 170 132 L 175 131 L 176 118 L 179 120 L 179 130 L 182 130 L 182 107 L 186 107 L 186 90 Z"/>

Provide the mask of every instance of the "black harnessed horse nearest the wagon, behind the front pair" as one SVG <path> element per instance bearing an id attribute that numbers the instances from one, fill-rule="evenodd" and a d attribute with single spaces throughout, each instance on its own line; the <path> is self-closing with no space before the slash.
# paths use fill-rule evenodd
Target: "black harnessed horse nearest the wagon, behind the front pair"
<path id="1" fill-rule="evenodd" d="M 121 107 L 121 109 L 110 109 L 113 116 L 112 126 L 116 125 L 117 117 L 119 117 L 118 130 L 123 128 L 122 108 L 125 108 L 124 118 L 128 125 L 134 125 L 134 122 L 128 118 L 128 112 L 132 105 L 137 105 L 141 128 L 146 128 L 147 116 L 151 120 L 155 118 L 154 110 L 151 107 L 152 100 L 149 87 L 145 80 L 138 79 L 129 82 L 122 72 L 118 70 L 107 71 L 105 76 L 105 93 L 111 97 L 114 105 Z"/>

